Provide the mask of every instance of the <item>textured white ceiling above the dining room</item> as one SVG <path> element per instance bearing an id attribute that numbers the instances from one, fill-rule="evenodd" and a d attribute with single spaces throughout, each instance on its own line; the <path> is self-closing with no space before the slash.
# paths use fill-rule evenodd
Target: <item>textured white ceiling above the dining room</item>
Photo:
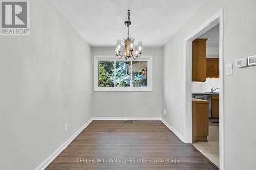
<path id="1" fill-rule="evenodd" d="M 51 0 L 91 46 L 114 46 L 127 37 L 161 47 L 205 0 Z"/>

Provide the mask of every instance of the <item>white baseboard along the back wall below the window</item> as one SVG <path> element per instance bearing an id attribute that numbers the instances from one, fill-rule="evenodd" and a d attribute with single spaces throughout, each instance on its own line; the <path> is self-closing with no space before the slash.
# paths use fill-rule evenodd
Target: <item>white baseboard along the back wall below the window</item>
<path id="1" fill-rule="evenodd" d="M 161 121 L 161 117 L 92 117 L 93 120 L 145 120 L 145 121 L 153 121 L 158 120 Z"/>

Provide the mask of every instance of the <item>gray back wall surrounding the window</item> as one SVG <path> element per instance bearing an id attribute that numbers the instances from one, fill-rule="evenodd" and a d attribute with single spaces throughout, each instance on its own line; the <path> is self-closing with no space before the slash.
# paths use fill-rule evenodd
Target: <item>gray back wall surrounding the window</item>
<path id="1" fill-rule="evenodd" d="M 94 55 L 115 55 L 113 48 L 92 48 Z M 94 117 L 161 117 L 162 49 L 145 48 L 153 56 L 153 91 L 93 91 Z M 92 57 L 93 57 L 92 56 Z"/>

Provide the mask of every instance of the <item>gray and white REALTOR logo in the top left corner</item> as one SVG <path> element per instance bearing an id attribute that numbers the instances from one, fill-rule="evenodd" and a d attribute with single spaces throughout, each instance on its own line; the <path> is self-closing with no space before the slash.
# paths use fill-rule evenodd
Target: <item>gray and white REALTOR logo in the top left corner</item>
<path id="1" fill-rule="evenodd" d="M 29 0 L 0 0 L 1 35 L 29 35 Z"/>

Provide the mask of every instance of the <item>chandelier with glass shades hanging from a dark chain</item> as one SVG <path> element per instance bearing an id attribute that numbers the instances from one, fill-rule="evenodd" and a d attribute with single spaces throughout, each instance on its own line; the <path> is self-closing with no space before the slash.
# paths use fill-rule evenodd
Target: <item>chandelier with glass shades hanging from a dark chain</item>
<path id="1" fill-rule="evenodd" d="M 142 46 L 142 41 L 139 41 L 138 46 L 136 47 L 134 45 L 134 39 L 130 37 L 130 10 L 128 10 L 128 20 L 124 22 L 124 24 L 128 28 L 128 36 L 127 39 L 123 39 L 124 41 L 124 53 L 121 55 L 120 53 L 122 52 L 122 44 L 121 40 L 118 39 L 116 41 L 116 56 L 118 59 L 121 59 L 122 57 L 125 58 L 125 60 L 129 59 L 132 57 L 134 60 L 140 57 L 141 53 L 143 52 L 143 46 Z"/>

